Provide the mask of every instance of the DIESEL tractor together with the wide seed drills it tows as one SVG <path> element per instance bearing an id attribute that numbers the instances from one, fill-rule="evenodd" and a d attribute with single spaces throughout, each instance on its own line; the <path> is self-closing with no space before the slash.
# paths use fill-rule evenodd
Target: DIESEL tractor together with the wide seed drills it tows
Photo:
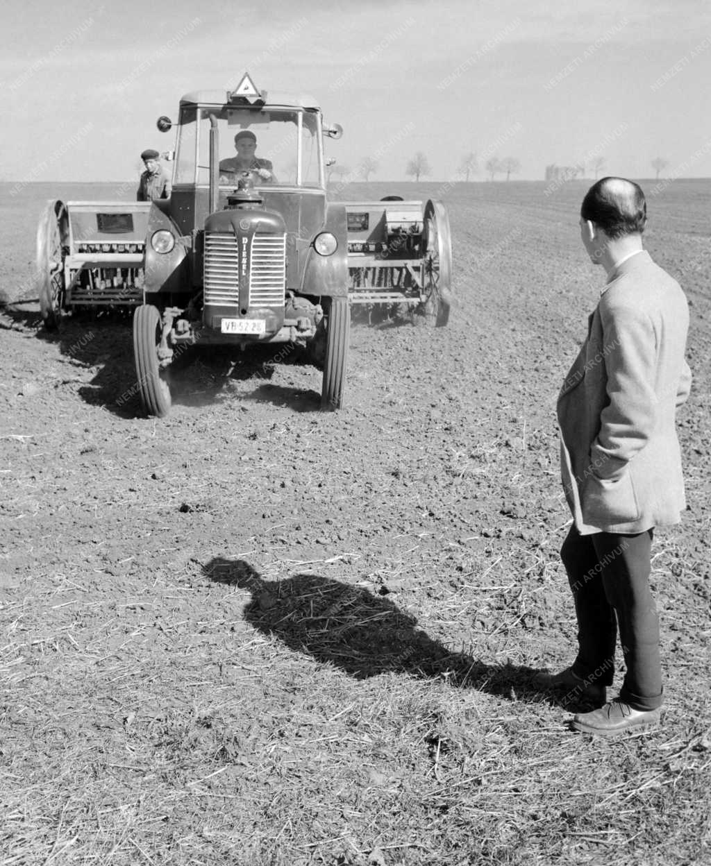
<path id="1" fill-rule="evenodd" d="M 166 372 L 187 346 L 303 346 L 321 407 L 343 404 L 352 304 L 404 303 L 446 324 L 451 248 L 443 204 L 329 201 L 324 123 L 310 96 L 237 87 L 180 100 L 171 197 L 48 202 L 37 233 L 47 327 L 62 309 L 134 307 L 137 391 L 171 409 Z M 245 146 L 249 143 L 249 147 Z"/>

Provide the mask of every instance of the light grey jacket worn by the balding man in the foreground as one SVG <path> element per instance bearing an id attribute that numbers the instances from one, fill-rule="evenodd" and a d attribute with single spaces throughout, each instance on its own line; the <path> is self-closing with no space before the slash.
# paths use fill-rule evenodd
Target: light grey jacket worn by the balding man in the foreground
<path id="1" fill-rule="evenodd" d="M 611 273 L 558 398 L 563 487 L 583 535 L 681 519 L 675 412 L 691 386 L 687 332 L 686 297 L 649 253 Z"/>

